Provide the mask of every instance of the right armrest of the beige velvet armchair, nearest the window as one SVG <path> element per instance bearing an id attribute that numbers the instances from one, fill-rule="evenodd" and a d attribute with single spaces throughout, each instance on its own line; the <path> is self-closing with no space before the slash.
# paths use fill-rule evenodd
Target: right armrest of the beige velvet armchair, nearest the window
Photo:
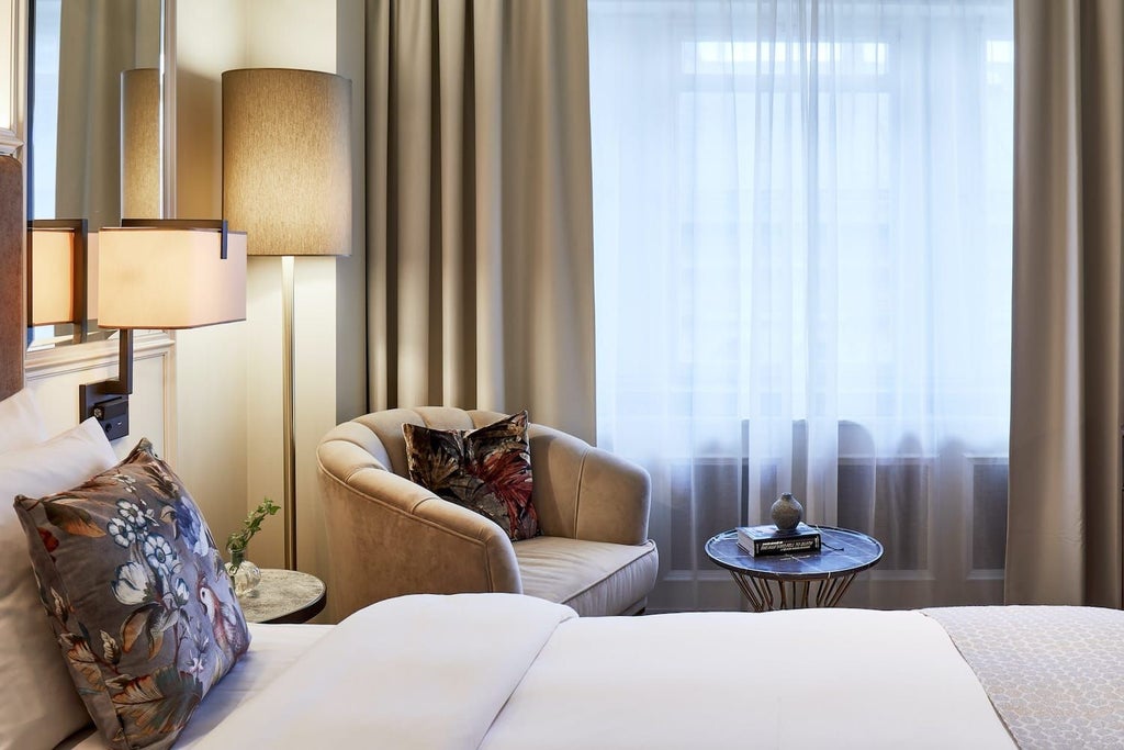
<path id="1" fill-rule="evenodd" d="M 652 482 L 631 461 L 565 433 L 532 425 L 532 501 L 543 533 L 643 544 Z"/>

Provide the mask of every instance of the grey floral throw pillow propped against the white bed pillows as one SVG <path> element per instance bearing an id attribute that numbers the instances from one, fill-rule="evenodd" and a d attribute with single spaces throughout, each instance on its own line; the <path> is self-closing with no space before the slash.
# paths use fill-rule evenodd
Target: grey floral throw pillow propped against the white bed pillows
<path id="1" fill-rule="evenodd" d="M 199 508 L 142 440 L 81 487 L 16 498 L 39 598 L 114 748 L 166 748 L 250 633 Z"/>

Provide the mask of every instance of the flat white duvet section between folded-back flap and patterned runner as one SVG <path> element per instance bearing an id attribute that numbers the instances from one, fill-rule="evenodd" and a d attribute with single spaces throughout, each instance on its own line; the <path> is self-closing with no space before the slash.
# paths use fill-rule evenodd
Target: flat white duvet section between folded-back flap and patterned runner
<path id="1" fill-rule="evenodd" d="M 482 748 L 1014 748 L 916 612 L 691 613 L 562 623 Z"/>

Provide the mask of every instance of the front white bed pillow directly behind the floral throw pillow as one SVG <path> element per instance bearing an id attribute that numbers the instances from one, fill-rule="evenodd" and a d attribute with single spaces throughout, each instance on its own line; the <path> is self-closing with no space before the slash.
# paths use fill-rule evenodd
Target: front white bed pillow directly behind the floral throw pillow
<path id="1" fill-rule="evenodd" d="M 39 604 L 12 503 L 17 495 L 72 489 L 116 464 L 93 418 L 45 443 L 0 453 L 0 750 L 53 748 L 90 722 Z"/>

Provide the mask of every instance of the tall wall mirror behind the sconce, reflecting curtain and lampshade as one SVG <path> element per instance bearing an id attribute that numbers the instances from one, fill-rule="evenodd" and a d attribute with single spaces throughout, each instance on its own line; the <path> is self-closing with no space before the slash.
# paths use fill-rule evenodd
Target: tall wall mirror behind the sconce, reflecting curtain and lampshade
<path id="1" fill-rule="evenodd" d="M 133 215 L 160 218 L 151 213 L 161 205 L 158 75 L 123 73 L 160 69 L 164 0 L 29 2 L 28 218 L 84 218 L 91 233 L 119 225 L 123 170 L 148 174 L 149 189 L 156 191 Z M 145 141 L 147 151 L 138 156 L 138 146 L 127 146 L 124 160 L 123 90 L 127 102 L 149 108 L 138 117 L 130 107 L 124 124 L 139 123 L 137 132 L 152 136 Z M 139 141 L 126 136 L 126 143 Z M 96 299 L 96 289 L 89 298 Z M 94 325 L 90 329 L 98 331 Z M 31 345 L 69 343 L 71 335 L 70 326 L 40 326 Z"/>

